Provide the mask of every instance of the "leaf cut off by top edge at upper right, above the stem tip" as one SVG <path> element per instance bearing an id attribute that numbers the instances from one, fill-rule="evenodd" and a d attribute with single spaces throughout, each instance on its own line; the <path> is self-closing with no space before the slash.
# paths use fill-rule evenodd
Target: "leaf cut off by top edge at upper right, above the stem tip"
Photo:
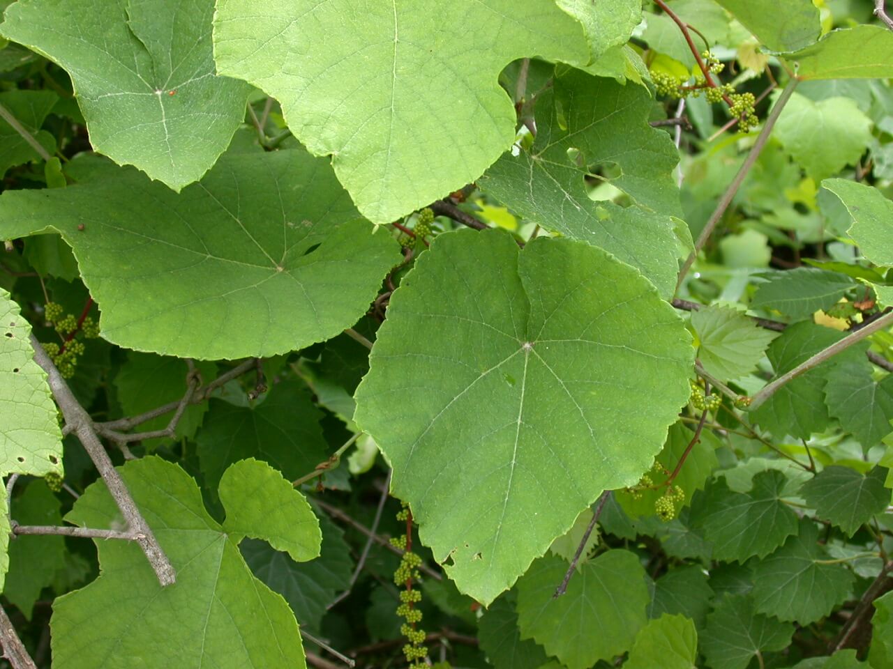
<path id="1" fill-rule="evenodd" d="M 811 45 L 822 32 L 812 0 L 716 0 L 772 51 Z"/>

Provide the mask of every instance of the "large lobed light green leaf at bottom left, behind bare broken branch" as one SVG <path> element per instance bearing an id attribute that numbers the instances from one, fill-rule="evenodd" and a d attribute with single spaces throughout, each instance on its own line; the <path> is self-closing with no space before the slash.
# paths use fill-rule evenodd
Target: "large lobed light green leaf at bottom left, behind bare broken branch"
<path id="1" fill-rule="evenodd" d="M 321 535 L 304 496 L 268 465 L 242 460 L 221 481 L 227 509 L 221 527 L 204 510 L 195 481 L 177 465 L 149 457 L 120 471 L 177 569 L 177 582 L 162 588 L 134 543 L 97 540 L 99 577 L 55 600 L 54 664 L 71 669 L 305 667 L 294 614 L 239 555 L 244 531 L 226 530 L 230 515 L 251 509 L 255 536 L 299 547 L 292 557 L 311 559 L 319 554 Z M 259 488 L 264 494 L 257 494 Z M 121 523 L 102 482 L 88 488 L 66 519 L 98 528 Z"/>

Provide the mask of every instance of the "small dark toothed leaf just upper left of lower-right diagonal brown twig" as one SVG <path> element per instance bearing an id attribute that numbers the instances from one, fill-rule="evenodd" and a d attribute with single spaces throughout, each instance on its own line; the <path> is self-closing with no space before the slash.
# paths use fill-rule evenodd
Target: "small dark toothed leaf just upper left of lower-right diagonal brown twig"
<path id="1" fill-rule="evenodd" d="M 753 597 L 756 611 L 807 625 L 842 604 L 855 581 L 843 565 L 822 565 L 828 556 L 818 544 L 819 531 L 809 520 L 784 546 L 756 564 Z"/>

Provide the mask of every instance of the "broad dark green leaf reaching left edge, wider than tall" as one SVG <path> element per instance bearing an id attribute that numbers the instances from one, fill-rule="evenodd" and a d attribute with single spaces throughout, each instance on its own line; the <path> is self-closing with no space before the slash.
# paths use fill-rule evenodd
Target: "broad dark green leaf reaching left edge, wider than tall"
<path id="1" fill-rule="evenodd" d="M 104 169 L 83 185 L 0 197 L 0 238 L 50 229 L 73 247 L 106 339 L 200 359 L 337 335 L 400 257 L 326 161 L 303 151 L 224 156 L 179 195 Z"/>

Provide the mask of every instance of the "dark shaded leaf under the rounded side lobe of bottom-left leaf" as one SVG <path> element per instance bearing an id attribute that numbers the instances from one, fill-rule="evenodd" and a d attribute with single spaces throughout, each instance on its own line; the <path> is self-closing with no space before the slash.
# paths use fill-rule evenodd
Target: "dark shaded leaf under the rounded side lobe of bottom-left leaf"
<path id="1" fill-rule="evenodd" d="M 320 629 L 322 616 L 336 596 L 350 586 L 354 561 L 344 533 L 327 516 L 319 517 L 320 557 L 295 562 L 266 541 L 246 539 L 238 548 L 251 571 L 272 591 L 279 592 L 301 621 L 302 628 Z"/>

